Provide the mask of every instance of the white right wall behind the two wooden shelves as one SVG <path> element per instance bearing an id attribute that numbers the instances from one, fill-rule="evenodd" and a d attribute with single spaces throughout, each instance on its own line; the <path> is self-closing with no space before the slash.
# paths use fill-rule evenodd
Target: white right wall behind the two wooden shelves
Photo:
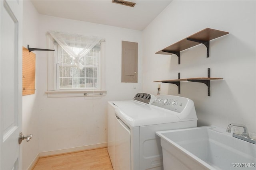
<path id="1" fill-rule="evenodd" d="M 210 41 L 210 58 L 206 47 L 198 45 L 176 55 L 158 55 L 157 51 L 206 27 L 230 32 Z M 174 84 L 161 84 L 161 94 L 184 96 L 194 100 L 198 125 L 229 123 L 247 125 L 256 132 L 256 2 L 255 1 L 173 1 L 144 29 L 143 91 L 156 94 L 156 80 L 212 77 L 211 96 L 202 83 L 182 82 L 180 94 Z"/>

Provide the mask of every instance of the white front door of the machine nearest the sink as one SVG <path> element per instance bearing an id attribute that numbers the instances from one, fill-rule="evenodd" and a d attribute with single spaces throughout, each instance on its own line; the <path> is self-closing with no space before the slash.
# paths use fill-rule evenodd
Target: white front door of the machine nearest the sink
<path id="1" fill-rule="evenodd" d="M 131 169 L 131 132 L 122 120 L 116 116 L 116 169 L 115 170 L 130 170 Z"/>

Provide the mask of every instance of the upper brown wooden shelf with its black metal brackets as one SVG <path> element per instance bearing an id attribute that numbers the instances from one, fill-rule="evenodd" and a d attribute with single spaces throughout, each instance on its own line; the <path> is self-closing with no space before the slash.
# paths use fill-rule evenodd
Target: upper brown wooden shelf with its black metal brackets
<path id="1" fill-rule="evenodd" d="M 210 51 L 210 40 L 216 39 L 218 37 L 222 37 L 224 35 L 229 34 L 225 31 L 220 31 L 211 28 L 205 28 L 193 35 L 190 35 L 187 38 L 184 38 L 158 52 L 156 54 L 164 54 L 164 55 L 172 55 L 176 54 L 178 56 L 178 62 L 180 64 L 180 51 L 189 49 L 199 44 L 204 44 L 207 47 L 207 57 L 209 57 Z"/>

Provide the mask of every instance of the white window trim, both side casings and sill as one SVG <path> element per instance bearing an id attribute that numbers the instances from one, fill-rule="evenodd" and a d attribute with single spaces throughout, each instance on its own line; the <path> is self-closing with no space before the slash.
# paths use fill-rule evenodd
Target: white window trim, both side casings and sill
<path id="1" fill-rule="evenodd" d="M 100 56 L 98 56 L 98 89 L 58 89 L 57 88 L 57 64 L 58 51 L 47 51 L 47 91 L 48 97 L 87 97 L 106 96 L 105 90 L 105 41 L 100 43 Z M 54 39 L 47 33 L 47 48 L 54 48 Z"/>

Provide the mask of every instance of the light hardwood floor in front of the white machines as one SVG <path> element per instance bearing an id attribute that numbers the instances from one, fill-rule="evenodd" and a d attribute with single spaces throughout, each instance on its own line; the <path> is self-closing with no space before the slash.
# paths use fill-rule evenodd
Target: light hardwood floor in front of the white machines
<path id="1" fill-rule="evenodd" d="M 40 158 L 33 170 L 113 170 L 107 148 Z"/>

